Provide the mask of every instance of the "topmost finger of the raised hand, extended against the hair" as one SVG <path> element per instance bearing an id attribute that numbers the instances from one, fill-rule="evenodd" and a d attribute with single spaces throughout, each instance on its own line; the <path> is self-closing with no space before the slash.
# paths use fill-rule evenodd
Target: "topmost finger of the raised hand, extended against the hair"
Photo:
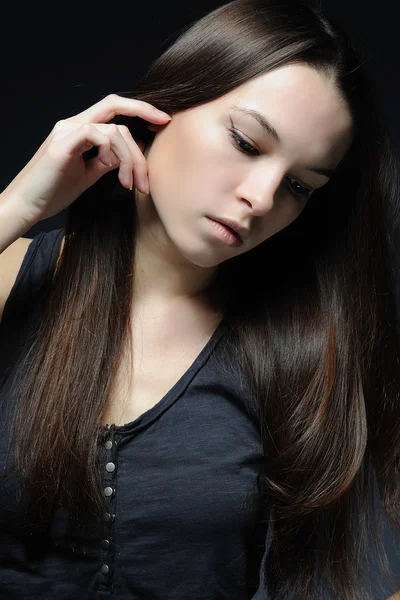
<path id="1" fill-rule="evenodd" d="M 141 117 L 151 123 L 165 123 L 170 118 L 167 113 L 159 111 L 144 100 L 124 98 L 117 94 L 110 94 L 93 104 L 81 113 L 69 117 L 67 121 L 86 123 L 108 123 L 116 115 L 127 117 Z"/>

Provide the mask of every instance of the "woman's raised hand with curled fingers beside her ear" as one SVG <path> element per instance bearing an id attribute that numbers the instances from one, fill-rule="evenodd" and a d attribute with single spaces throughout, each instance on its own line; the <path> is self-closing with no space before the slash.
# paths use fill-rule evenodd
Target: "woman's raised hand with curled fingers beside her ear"
<path id="1" fill-rule="evenodd" d="M 156 125 L 170 117 L 142 100 L 110 94 L 68 119 L 58 121 L 39 150 L 3 191 L 27 229 L 52 217 L 76 200 L 105 173 L 119 167 L 123 186 L 149 191 L 143 144 L 135 142 L 125 125 L 109 124 L 116 115 L 137 116 Z M 82 154 L 98 147 L 85 162 Z"/>

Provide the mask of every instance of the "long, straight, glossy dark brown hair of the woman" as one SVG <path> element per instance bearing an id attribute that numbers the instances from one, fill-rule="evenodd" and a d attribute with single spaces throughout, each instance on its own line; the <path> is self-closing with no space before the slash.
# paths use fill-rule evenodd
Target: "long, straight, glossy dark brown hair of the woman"
<path id="1" fill-rule="evenodd" d="M 379 549 L 378 505 L 400 529 L 400 163 L 362 61 L 302 1 L 234 0 L 180 31 L 129 95 L 173 115 L 293 63 L 334 77 L 354 142 L 294 223 L 217 276 L 260 417 L 266 590 L 273 600 L 369 598 L 360 567 L 371 537 Z M 113 122 L 151 142 L 140 118 Z M 63 492 L 78 512 L 103 510 L 96 442 L 130 343 L 135 225 L 117 171 L 71 205 L 44 317 L 21 355 L 15 465 L 47 508 Z"/>

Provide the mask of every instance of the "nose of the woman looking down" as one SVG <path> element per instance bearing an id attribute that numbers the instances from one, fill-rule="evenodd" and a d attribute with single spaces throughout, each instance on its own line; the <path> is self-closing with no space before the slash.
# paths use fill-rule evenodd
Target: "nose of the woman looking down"
<path id="1" fill-rule="evenodd" d="M 242 181 L 236 190 L 238 197 L 249 204 L 254 216 L 262 217 L 273 209 L 281 179 L 282 170 L 264 168 Z"/>

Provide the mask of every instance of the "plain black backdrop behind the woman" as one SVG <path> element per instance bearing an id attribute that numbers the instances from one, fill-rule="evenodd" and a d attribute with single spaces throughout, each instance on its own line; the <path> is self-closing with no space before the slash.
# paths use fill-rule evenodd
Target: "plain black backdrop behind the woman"
<path id="1" fill-rule="evenodd" d="M 109 93 L 126 93 L 181 28 L 223 2 L 9 5 L 2 9 L 1 169 L 3 190 L 54 124 Z M 325 0 L 361 52 L 389 129 L 400 146 L 400 49 L 393 0 Z M 66 211 L 26 237 L 64 226 Z M 400 570 L 399 559 L 391 560 Z M 398 573 L 400 577 L 400 573 Z"/>

